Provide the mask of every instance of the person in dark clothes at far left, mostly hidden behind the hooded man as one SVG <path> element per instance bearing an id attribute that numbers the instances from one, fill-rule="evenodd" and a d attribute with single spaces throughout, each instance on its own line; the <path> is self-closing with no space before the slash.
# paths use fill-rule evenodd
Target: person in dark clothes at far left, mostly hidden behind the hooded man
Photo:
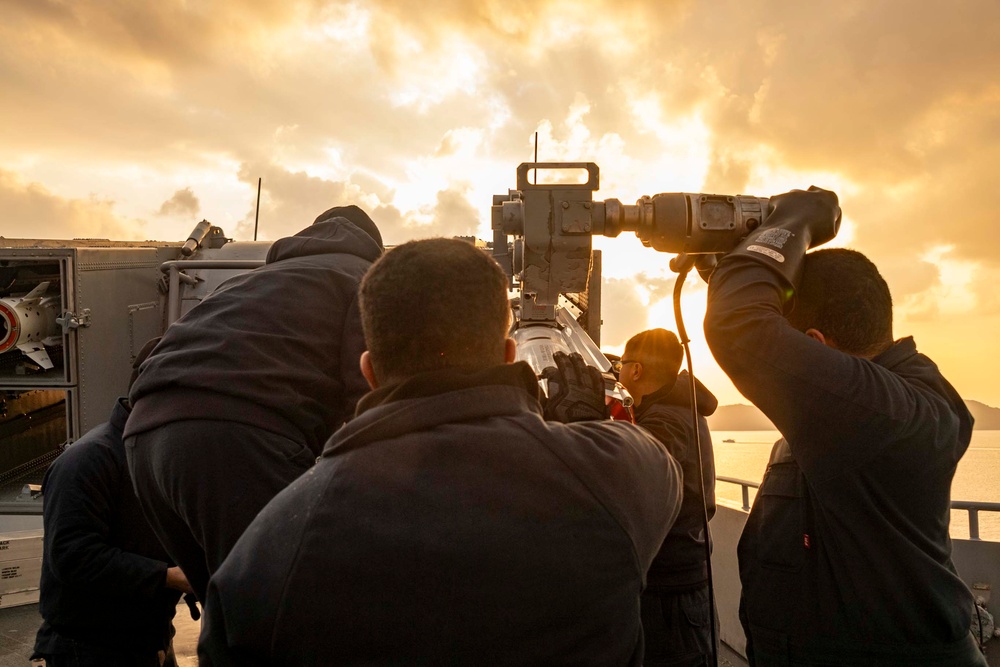
<path id="1" fill-rule="evenodd" d="M 59 456 L 45 473 L 39 611 L 32 659 L 49 667 L 173 665 L 171 623 L 190 591 L 153 534 L 132 490 L 122 429 L 111 420 Z"/>

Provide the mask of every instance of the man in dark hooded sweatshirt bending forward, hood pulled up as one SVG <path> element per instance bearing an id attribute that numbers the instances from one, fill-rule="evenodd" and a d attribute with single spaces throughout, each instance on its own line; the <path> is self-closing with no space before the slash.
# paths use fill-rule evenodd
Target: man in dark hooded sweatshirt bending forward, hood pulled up
<path id="1" fill-rule="evenodd" d="M 199 599 L 244 528 L 365 393 L 357 289 L 381 253 L 361 209 L 330 209 L 172 324 L 143 363 L 125 428 L 129 469 Z"/>

